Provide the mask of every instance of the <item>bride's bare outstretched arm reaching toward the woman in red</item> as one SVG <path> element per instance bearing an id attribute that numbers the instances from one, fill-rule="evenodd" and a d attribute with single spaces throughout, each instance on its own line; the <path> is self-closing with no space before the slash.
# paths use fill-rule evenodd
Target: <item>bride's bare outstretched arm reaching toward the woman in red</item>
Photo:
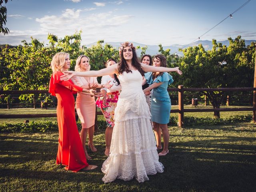
<path id="1" fill-rule="evenodd" d="M 117 69 L 118 64 L 114 64 L 112 66 L 109 66 L 108 68 L 104 68 L 98 71 L 64 71 L 64 75 L 60 76 L 60 80 L 67 81 L 71 79 L 74 76 L 82 76 L 82 77 L 99 77 L 104 75 L 111 75 L 118 72 Z"/>

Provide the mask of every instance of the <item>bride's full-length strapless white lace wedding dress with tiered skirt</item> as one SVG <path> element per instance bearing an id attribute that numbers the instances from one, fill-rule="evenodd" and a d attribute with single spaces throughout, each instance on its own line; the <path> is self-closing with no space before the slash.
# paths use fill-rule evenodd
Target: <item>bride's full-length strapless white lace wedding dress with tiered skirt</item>
<path id="1" fill-rule="evenodd" d="M 102 164 L 105 174 L 102 181 L 136 178 L 144 182 L 149 180 L 147 175 L 164 172 L 164 166 L 158 161 L 151 115 L 141 86 L 142 76 L 138 70 L 132 70 L 118 78 L 122 91 L 115 110 L 110 155 Z"/>

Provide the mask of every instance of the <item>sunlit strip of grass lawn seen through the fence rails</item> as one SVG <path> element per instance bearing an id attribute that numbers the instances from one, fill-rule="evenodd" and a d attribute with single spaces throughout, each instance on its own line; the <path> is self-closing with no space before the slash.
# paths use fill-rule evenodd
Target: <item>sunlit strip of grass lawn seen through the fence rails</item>
<path id="1" fill-rule="evenodd" d="M 248 107 L 248 106 L 221 106 L 229 108 L 238 108 L 238 107 Z M 185 105 L 184 108 L 194 108 L 191 105 Z M 197 108 L 212 108 L 211 106 L 198 105 Z M 173 105 L 172 109 L 178 109 L 177 105 Z M 98 109 L 100 111 L 100 109 Z M 11 108 L 11 109 L 0 109 L 0 114 L 46 114 L 46 113 L 56 113 L 56 108 L 46 109 L 34 109 L 34 108 Z M 229 118 L 230 116 L 236 115 L 248 115 L 252 114 L 252 111 L 229 111 L 229 112 L 220 112 L 220 118 Z M 178 118 L 178 113 L 171 113 L 171 116 Z M 189 112 L 184 113 L 184 116 L 194 116 L 194 117 L 213 117 L 213 112 Z M 41 120 L 52 120 L 57 121 L 57 118 L 17 118 L 17 119 L 0 119 L 0 124 L 4 123 L 22 123 L 26 119 L 30 121 L 41 121 Z M 103 120 L 103 116 L 98 116 L 99 120 Z"/>

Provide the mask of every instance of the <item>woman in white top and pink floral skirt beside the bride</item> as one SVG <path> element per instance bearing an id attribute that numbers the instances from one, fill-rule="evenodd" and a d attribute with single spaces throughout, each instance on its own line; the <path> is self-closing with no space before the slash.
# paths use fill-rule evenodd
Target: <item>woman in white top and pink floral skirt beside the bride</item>
<path id="1" fill-rule="evenodd" d="M 116 64 L 116 61 L 114 59 L 109 59 L 106 62 L 106 67 L 109 67 L 113 64 Z M 108 82 L 110 82 L 109 84 L 112 84 L 113 86 L 109 89 L 102 88 L 101 92 L 104 96 L 99 97 L 96 100 L 96 105 L 101 109 L 107 123 L 107 128 L 105 131 L 106 149 L 104 152 L 106 156 L 109 156 L 112 132 L 114 128 L 114 111 L 121 89 L 121 85 L 116 74 L 105 75 L 102 77 L 101 84 Z"/>

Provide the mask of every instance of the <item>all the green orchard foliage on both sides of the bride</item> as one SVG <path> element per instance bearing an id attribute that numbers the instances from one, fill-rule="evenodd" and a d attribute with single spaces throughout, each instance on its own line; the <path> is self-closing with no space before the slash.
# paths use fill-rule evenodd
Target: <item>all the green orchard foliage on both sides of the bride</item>
<path id="1" fill-rule="evenodd" d="M 118 61 L 119 52 L 110 44 L 99 40 L 96 45 L 87 48 L 81 46 L 82 31 L 58 38 L 48 34 L 48 46 L 31 37 L 31 42 L 22 41 L 17 47 L 1 46 L 0 53 L 0 89 L 1 90 L 46 90 L 52 70 L 50 62 L 57 52 L 70 54 L 71 68 L 74 70 L 76 58 L 84 54 L 90 58 L 91 70 L 105 68 L 104 62 L 109 58 Z M 168 67 L 179 66 L 183 75 L 172 73 L 174 83 L 172 87 L 184 85 L 189 88 L 228 88 L 252 87 L 254 77 L 255 44 L 245 46 L 245 41 L 238 36 L 236 39 L 228 38 L 229 46 L 212 40 L 212 50 L 204 50 L 202 44 L 188 47 L 183 50 L 184 57 L 170 54 L 170 49 L 164 50 L 159 45 L 158 52 L 167 58 Z M 141 55 L 145 54 L 147 47 L 137 46 Z M 225 64 L 225 62 L 226 64 Z M 206 94 L 214 108 L 219 108 L 226 92 L 202 92 Z M 22 100 L 31 99 L 22 95 Z M 1 100 L 1 98 L 0 98 Z M 219 117 L 219 113 L 214 114 Z"/>

